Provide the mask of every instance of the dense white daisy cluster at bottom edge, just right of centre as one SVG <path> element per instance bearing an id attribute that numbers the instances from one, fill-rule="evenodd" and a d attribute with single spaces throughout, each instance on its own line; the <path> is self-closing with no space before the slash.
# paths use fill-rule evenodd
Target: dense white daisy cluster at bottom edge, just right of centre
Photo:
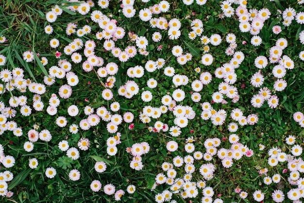
<path id="1" fill-rule="evenodd" d="M 218 147 L 221 144 L 219 138 L 206 139 L 204 142 L 205 153 L 201 151 L 196 151 L 193 137 L 186 139 L 185 151 L 187 155 L 182 157 L 180 155 L 175 156 L 172 159 L 172 163 L 164 162 L 162 164 L 163 173 L 158 173 L 155 177 L 155 184 L 153 189 L 162 184 L 167 184 L 165 188 L 169 187 L 169 190 L 164 190 L 162 193 L 155 195 L 155 201 L 157 203 L 163 203 L 170 201 L 174 203 L 172 194 L 180 194 L 182 198 L 196 198 L 200 193 L 203 193 L 202 203 L 214 202 L 223 203 L 219 198 L 213 200 L 215 196 L 214 189 L 211 186 L 206 186 L 206 181 L 214 178 L 214 173 L 216 171 L 216 166 L 212 163 L 215 156 L 221 161 L 224 168 L 230 168 L 234 164 L 234 161 L 239 161 L 242 156 L 251 157 L 253 156 L 253 151 L 247 146 L 242 145 L 238 142 L 239 137 L 236 134 L 229 136 L 229 142 L 232 144 L 230 149 Z M 169 141 L 167 144 L 167 149 L 172 152 L 177 149 L 177 143 L 175 141 Z M 170 150 L 171 149 L 171 150 Z M 201 148 L 203 149 L 203 148 Z M 196 165 L 200 160 L 207 162 L 202 164 L 199 169 L 196 169 Z M 199 171 L 202 175 L 202 179 L 198 181 L 193 180 L 193 176 L 196 171 Z M 178 170 L 185 170 L 182 177 L 178 176 Z M 202 191 L 199 191 L 202 190 Z M 246 195 L 247 197 L 247 195 Z M 245 199 L 246 197 L 241 197 Z"/>

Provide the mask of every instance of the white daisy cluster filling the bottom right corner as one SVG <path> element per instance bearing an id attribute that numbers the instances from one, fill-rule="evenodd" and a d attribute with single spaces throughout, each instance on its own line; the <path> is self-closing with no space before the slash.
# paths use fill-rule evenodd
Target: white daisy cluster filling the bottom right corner
<path id="1" fill-rule="evenodd" d="M 273 147 L 268 151 L 268 165 L 270 166 L 270 169 L 264 168 L 260 169 L 258 172 L 261 178 L 263 178 L 265 185 L 279 184 L 283 174 L 289 173 L 287 181 L 292 187 L 288 189 L 287 194 L 284 194 L 280 189 L 274 190 L 271 194 L 272 199 L 276 203 L 282 203 L 287 197 L 295 203 L 300 203 L 302 202 L 300 199 L 303 198 L 304 195 L 304 179 L 301 177 L 304 172 L 304 161 L 301 157 L 303 148 L 296 144 L 296 137 L 293 135 L 287 136 L 285 138 L 285 143 L 287 151 L 285 151 L 286 149 L 283 151 L 278 147 Z M 265 146 L 260 144 L 259 148 L 263 151 Z M 283 169 L 283 171 L 280 171 L 280 173 L 278 170 L 274 169 L 274 167 L 278 165 L 284 165 L 286 168 Z M 261 193 L 261 191 L 255 191 L 254 193 L 260 194 L 259 196 L 253 194 L 253 198 L 256 201 L 260 202 L 264 200 L 264 194 Z"/>

